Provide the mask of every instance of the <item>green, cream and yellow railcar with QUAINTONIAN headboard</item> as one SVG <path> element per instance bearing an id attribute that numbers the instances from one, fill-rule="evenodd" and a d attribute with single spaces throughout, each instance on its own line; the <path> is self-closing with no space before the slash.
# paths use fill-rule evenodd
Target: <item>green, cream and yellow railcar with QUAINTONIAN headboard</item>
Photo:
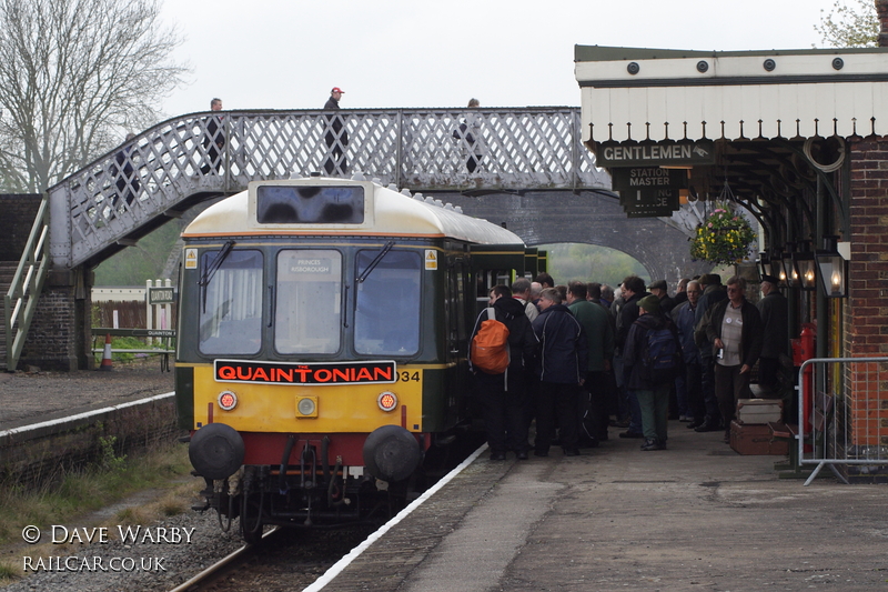
<path id="1" fill-rule="evenodd" d="M 252 182 L 183 238 L 180 424 L 248 539 L 360 518 L 450 439 L 478 297 L 525 267 L 508 230 L 357 180 Z"/>

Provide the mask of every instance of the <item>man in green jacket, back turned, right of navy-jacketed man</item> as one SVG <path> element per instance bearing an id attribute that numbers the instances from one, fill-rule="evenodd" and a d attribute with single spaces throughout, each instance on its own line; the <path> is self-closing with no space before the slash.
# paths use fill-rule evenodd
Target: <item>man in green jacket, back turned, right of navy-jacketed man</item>
<path id="1" fill-rule="evenodd" d="M 589 428 L 592 444 L 596 445 L 598 441 L 607 440 L 608 415 L 605 389 L 610 384 L 607 372 L 610 371 L 610 360 L 614 358 L 614 330 L 604 307 L 586 300 L 586 284 L 581 281 L 573 281 L 567 287 L 567 308 L 583 325 L 589 344 L 589 363 L 585 382 L 588 397 L 581 399 L 583 403 L 588 403 L 589 418 L 585 425 Z M 583 432 L 584 430 L 581 430 L 581 434 Z"/>

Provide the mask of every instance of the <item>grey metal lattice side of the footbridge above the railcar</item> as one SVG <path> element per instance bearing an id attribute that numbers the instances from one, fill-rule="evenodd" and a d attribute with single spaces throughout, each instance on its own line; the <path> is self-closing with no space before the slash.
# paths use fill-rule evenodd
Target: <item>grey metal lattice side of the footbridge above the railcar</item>
<path id="1" fill-rule="evenodd" d="M 413 191 L 608 189 L 579 126 L 571 107 L 181 116 L 49 189 L 53 264 L 73 268 L 129 244 L 147 221 L 180 215 L 189 198 L 314 171 Z"/>

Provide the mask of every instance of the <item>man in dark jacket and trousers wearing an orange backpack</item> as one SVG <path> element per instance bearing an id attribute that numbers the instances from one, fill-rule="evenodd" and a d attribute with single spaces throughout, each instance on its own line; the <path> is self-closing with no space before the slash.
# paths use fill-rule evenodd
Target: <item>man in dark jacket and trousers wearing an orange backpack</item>
<path id="1" fill-rule="evenodd" d="M 512 298 L 508 287 L 495 285 L 491 290 L 490 305 L 493 307 L 496 320 L 508 329 L 508 368 L 500 374 L 488 374 L 473 368 L 471 347 L 468 363 L 473 372 L 475 393 L 484 413 L 491 460 L 505 460 L 507 450 L 513 450 L 518 460 L 526 460 L 529 448 L 526 418 L 531 404 L 527 378 L 536 355 L 536 335 L 524 313 L 524 305 Z M 472 339 L 487 318 L 487 311 L 482 311 L 475 321 Z"/>

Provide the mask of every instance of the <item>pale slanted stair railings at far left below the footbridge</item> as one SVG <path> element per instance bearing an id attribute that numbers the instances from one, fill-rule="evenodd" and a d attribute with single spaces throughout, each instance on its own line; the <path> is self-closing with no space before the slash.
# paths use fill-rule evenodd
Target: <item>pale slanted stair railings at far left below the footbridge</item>
<path id="1" fill-rule="evenodd" d="M 14 371 L 24 348 L 24 338 L 40 299 L 40 291 L 50 268 L 49 194 L 44 193 L 37 211 L 31 233 L 24 244 L 12 283 L 3 297 L 3 330 L 6 332 L 6 370 Z"/>

